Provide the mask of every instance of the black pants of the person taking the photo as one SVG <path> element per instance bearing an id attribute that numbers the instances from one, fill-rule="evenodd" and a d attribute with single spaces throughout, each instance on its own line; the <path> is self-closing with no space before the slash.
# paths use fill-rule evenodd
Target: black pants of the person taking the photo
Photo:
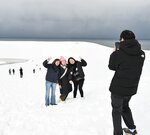
<path id="1" fill-rule="evenodd" d="M 131 96 L 118 96 L 111 94 L 112 118 L 114 126 L 114 135 L 123 135 L 121 117 L 126 126 L 135 129 L 132 112 L 129 107 Z"/>

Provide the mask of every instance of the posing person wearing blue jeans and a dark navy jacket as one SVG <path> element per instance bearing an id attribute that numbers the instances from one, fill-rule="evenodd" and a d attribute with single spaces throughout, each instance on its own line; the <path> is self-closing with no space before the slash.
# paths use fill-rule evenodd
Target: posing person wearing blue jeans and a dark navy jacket
<path id="1" fill-rule="evenodd" d="M 45 94 L 45 105 L 57 105 L 55 99 L 55 91 L 56 85 L 58 83 L 59 77 L 59 65 L 60 60 L 55 59 L 52 63 L 49 64 L 51 58 L 48 58 L 43 62 L 43 66 L 47 68 L 46 73 L 46 94 Z M 51 96 L 50 96 L 50 89 L 51 89 Z"/>

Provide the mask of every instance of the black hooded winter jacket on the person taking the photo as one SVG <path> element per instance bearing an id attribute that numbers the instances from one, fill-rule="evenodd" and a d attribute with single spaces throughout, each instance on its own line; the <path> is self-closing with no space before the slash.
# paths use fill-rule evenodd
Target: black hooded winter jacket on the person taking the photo
<path id="1" fill-rule="evenodd" d="M 136 94 L 144 60 L 145 53 L 137 40 L 120 42 L 119 50 L 110 55 L 108 67 L 115 74 L 109 90 L 120 96 Z"/>

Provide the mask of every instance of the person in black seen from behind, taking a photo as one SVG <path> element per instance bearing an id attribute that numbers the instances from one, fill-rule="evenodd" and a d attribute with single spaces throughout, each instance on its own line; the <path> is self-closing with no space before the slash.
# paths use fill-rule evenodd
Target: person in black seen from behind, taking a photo
<path id="1" fill-rule="evenodd" d="M 110 84 L 114 135 L 136 134 L 136 126 L 129 107 L 129 101 L 137 93 L 137 88 L 145 60 L 145 53 L 130 30 L 120 35 L 119 48 L 110 55 L 109 69 L 115 74 Z M 121 117 L 128 128 L 122 130 Z"/>

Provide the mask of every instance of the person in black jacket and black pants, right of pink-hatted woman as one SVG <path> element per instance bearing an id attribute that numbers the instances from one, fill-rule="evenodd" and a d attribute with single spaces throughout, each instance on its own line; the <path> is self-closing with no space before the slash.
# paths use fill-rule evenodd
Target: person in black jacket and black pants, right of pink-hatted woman
<path id="1" fill-rule="evenodd" d="M 71 71 L 73 77 L 73 83 L 74 83 L 74 91 L 73 91 L 74 98 L 76 98 L 77 96 L 78 87 L 79 87 L 81 97 L 84 97 L 82 87 L 84 84 L 85 74 L 82 67 L 85 66 L 87 66 L 87 62 L 82 58 L 80 58 L 80 61 L 75 60 L 73 57 L 70 57 L 68 59 L 68 68 Z"/>

